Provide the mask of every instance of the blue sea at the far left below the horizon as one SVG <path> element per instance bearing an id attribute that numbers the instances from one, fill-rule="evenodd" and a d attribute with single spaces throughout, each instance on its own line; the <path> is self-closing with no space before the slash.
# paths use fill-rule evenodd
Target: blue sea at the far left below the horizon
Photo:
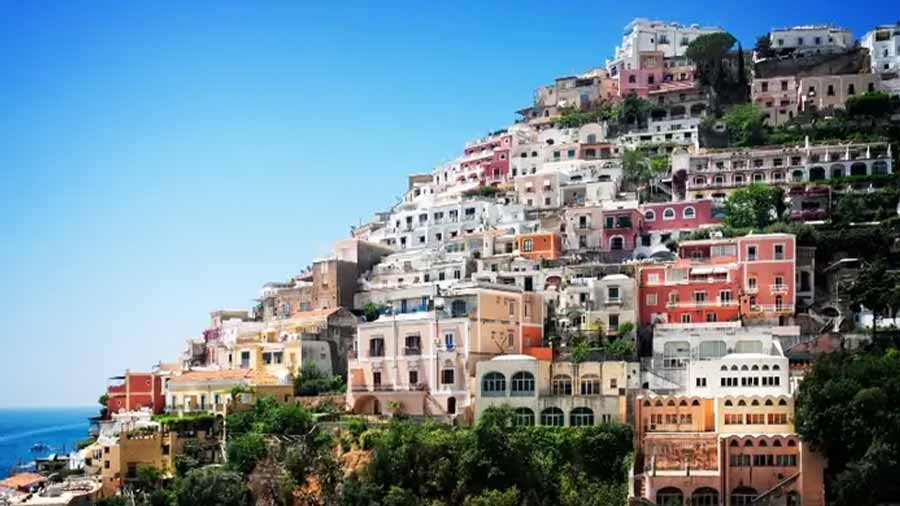
<path id="1" fill-rule="evenodd" d="M 97 414 L 98 407 L 0 408 L 0 479 L 36 457 L 68 455 L 88 437 L 88 418 Z M 48 448 L 31 451 L 38 443 Z"/>

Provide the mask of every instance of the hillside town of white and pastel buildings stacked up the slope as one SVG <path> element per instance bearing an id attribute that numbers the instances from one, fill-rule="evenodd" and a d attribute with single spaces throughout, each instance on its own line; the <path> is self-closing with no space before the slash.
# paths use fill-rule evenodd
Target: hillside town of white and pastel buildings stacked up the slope
<path id="1" fill-rule="evenodd" d="M 900 304 L 860 280 L 900 268 L 900 24 L 745 49 L 638 18 L 608 51 L 409 174 L 330 255 L 110 378 L 90 438 L 0 481 L 0 504 L 135 504 L 148 475 L 233 461 L 266 403 L 338 434 L 621 424 L 628 504 L 834 504 L 798 393 L 823 356 L 896 334 Z M 347 476 L 374 458 L 358 436 Z M 517 493 L 496 504 L 555 504 Z"/>

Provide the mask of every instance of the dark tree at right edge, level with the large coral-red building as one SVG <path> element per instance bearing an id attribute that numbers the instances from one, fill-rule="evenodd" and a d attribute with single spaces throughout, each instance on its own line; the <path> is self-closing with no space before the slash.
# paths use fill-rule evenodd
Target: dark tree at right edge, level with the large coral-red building
<path id="1" fill-rule="evenodd" d="M 872 312 L 872 339 L 878 334 L 878 320 L 900 311 L 900 274 L 888 272 L 887 263 L 876 258 L 856 275 L 844 296 L 850 308 L 859 312 L 863 307 Z"/>

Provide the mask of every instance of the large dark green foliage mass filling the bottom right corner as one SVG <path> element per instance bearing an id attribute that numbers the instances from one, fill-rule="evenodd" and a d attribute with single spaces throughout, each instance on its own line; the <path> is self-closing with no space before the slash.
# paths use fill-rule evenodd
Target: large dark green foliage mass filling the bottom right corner
<path id="1" fill-rule="evenodd" d="M 900 352 L 831 353 L 800 384 L 797 431 L 827 458 L 837 506 L 900 497 Z"/>

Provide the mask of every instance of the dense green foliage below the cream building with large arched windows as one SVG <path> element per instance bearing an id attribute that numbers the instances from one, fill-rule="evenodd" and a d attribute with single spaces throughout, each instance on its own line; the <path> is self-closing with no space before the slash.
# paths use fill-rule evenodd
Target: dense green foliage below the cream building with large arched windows
<path id="1" fill-rule="evenodd" d="M 512 420 L 509 408 L 492 408 L 473 428 L 392 421 L 372 441 L 368 466 L 344 481 L 342 504 L 624 504 L 630 427 L 527 427 Z M 566 503 L 560 485 L 566 479 L 591 484 L 586 491 L 617 493 L 603 498 L 613 502 Z"/>

